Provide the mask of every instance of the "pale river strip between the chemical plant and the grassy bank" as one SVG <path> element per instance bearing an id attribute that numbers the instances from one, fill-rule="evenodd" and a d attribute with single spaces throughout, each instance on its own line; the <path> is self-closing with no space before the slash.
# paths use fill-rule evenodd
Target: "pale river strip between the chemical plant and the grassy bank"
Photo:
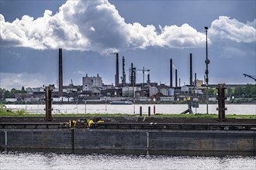
<path id="1" fill-rule="evenodd" d="M 111 105 L 111 104 L 53 104 L 53 114 L 140 114 L 140 106 L 143 114 L 153 114 L 153 104 L 131 104 L 131 105 Z M 43 104 L 7 104 L 7 108 L 12 110 L 26 110 L 31 114 L 44 114 Z M 217 104 L 209 104 L 209 114 L 218 114 Z M 226 104 L 226 114 L 256 114 L 256 104 Z M 180 114 L 188 109 L 186 104 L 156 104 L 155 113 L 159 114 Z M 205 114 L 206 104 L 200 104 L 199 108 L 192 108 L 194 113 Z"/>

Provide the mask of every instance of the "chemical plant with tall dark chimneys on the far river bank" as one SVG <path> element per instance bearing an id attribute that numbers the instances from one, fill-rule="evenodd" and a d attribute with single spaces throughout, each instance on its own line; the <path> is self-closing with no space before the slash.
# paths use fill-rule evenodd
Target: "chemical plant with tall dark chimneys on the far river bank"
<path id="1" fill-rule="evenodd" d="M 192 53 L 190 53 L 190 82 L 188 85 L 181 86 L 181 79 L 178 78 L 178 70 L 175 70 L 175 85 L 173 83 L 173 60 L 170 59 L 170 84 L 158 84 L 150 82 L 150 70 L 137 69 L 135 64 L 130 63 L 128 81 L 126 81 L 125 57 L 122 58 L 122 76 L 119 76 L 119 53 L 116 55 L 116 74 L 115 85 L 104 84 L 102 77 L 99 74 L 88 76 L 86 74 L 81 78 L 82 85 L 74 85 L 71 83 L 63 85 L 63 64 L 62 64 L 62 49 L 59 49 L 59 77 L 58 87 L 53 87 L 53 101 L 62 103 L 82 103 L 85 100 L 88 102 L 112 102 L 112 101 L 132 101 L 132 102 L 150 102 L 154 98 L 158 102 L 171 102 L 186 100 L 186 97 L 192 97 L 193 100 L 206 101 L 206 83 L 204 80 L 196 79 L 196 73 L 192 72 Z M 137 83 L 137 71 L 143 73 L 143 82 Z M 147 80 L 145 81 L 145 75 Z M 119 82 L 119 80 L 121 80 Z M 209 85 L 211 87 L 211 85 Z M 214 87 L 214 85 L 212 85 Z M 237 85 L 231 85 L 237 87 Z M 44 101 L 44 87 L 26 88 L 25 94 L 16 94 L 15 98 L 5 99 L 9 102 L 17 100 L 26 100 L 31 103 L 42 103 Z M 209 97 L 209 100 L 216 100 L 216 97 Z"/>

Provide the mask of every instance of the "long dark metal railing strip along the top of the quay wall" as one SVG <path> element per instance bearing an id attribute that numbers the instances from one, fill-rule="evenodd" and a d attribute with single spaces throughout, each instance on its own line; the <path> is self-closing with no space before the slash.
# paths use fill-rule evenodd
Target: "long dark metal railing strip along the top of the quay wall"
<path id="1" fill-rule="evenodd" d="M 69 128 L 63 123 L 0 123 L 0 129 L 57 129 Z M 75 128 L 88 128 L 76 126 Z M 166 124 L 166 123 L 112 123 L 101 122 L 91 124 L 95 129 L 162 129 L 162 130 L 220 130 L 220 131 L 256 131 L 256 124 Z"/>

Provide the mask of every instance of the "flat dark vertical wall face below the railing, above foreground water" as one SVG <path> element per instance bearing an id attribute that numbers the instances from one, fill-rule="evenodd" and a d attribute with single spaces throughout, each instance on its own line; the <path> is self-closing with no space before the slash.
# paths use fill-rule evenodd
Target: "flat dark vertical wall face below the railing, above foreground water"
<path id="1" fill-rule="evenodd" d="M 0 129 L 0 148 L 256 152 L 256 131 Z"/>

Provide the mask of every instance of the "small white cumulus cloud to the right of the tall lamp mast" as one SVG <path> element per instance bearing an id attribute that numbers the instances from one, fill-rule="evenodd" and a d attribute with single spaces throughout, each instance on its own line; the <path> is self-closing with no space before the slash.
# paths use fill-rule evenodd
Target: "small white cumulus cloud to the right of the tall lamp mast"
<path id="1" fill-rule="evenodd" d="M 209 29 L 209 36 L 214 39 L 229 39 L 234 42 L 254 42 L 256 36 L 254 22 L 237 21 L 227 16 L 220 16 L 212 22 Z"/>

